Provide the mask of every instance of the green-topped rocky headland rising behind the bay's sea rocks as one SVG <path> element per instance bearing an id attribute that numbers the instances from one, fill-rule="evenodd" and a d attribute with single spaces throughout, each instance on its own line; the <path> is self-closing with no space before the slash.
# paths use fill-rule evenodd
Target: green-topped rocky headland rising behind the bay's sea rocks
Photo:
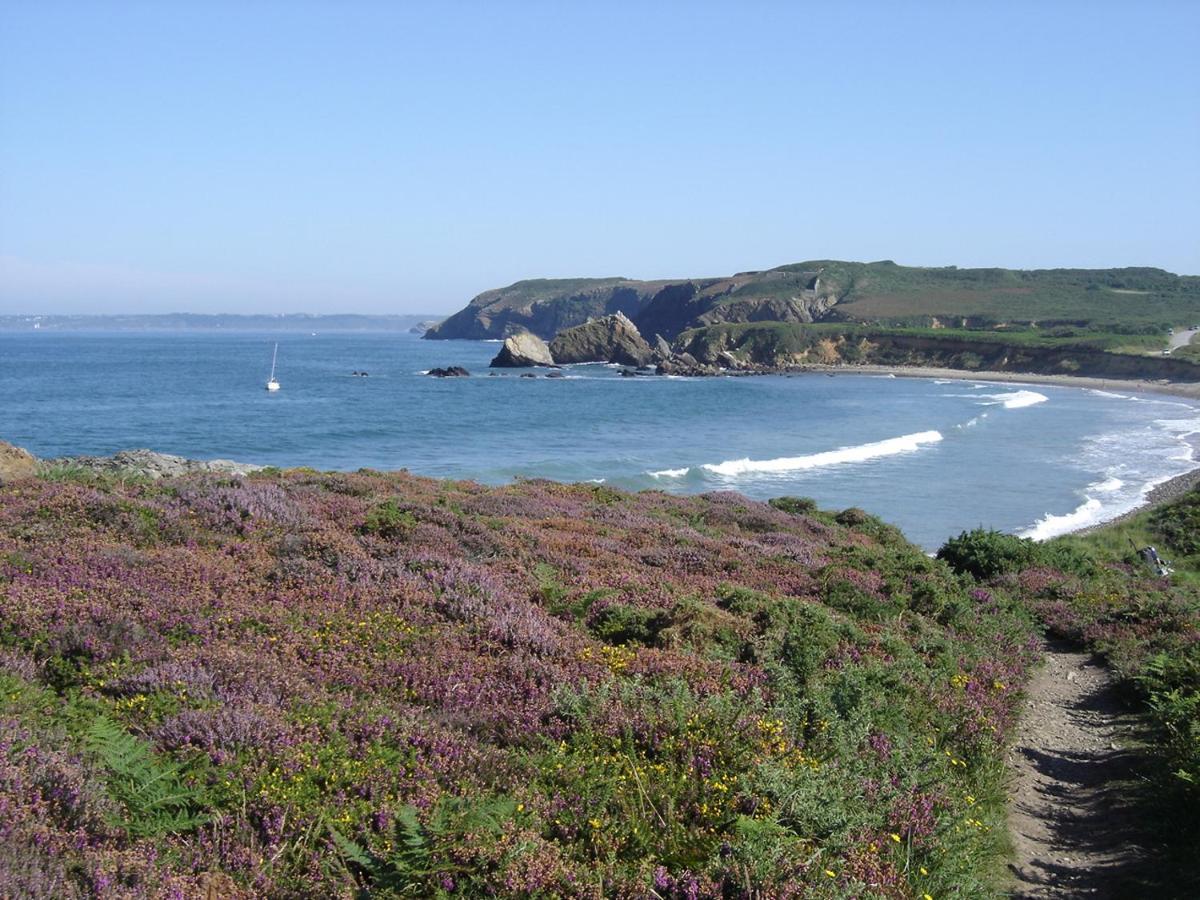
<path id="1" fill-rule="evenodd" d="M 1200 317 L 1200 277 L 1162 269 L 959 269 L 830 259 L 727 277 L 520 281 L 487 290 L 426 334 L 546 340 L 623 312 L 647 337 L 724 323 L 845 322 L 907 328 L 1072 326 L 1165 332 Z"/>

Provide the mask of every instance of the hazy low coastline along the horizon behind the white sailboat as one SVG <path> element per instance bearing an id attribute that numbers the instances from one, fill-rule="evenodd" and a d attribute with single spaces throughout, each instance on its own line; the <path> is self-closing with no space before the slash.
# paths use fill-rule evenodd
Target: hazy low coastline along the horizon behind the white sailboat
<path id="1" fill-rule="evenodd" d="M 0 316 L 0 331 L 412 331 L 439 316 Z"/>

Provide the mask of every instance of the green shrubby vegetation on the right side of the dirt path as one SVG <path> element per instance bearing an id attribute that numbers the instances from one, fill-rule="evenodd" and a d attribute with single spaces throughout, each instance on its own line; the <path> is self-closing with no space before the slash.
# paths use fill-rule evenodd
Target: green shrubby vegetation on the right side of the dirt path
<path id="1" fill-rule="evenodd" d="M 1153 546 L 1172 571 L 1142 554 Z M 1104 656 L 1141 709 L 1142 812 L 1166 847 L 1162 895 L 1194 896 L 1200 866 L 1200 488 L 1086 535 L 1036 545 L 995 532 L 938 556 L 1014 590 L 1050 635 Z"/>

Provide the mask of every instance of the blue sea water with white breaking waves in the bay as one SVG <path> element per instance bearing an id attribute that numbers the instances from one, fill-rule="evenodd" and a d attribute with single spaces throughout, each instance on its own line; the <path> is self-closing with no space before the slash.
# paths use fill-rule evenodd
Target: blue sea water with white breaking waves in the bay
<path id="1" fill-rule="evenodd" d="M 282 390 L 268 394 L 276 341 Z M 1045 538 L 1103 521 L 1200 464 L 1200 406 L 1118 388 L 622 378 L 602 365 L 487 377 L 497 349 L 395 334 L 0 334 L 0 438 L 43 457 L 148 446 L 487 484 L 808 496 L 930 548 L 976 526 Z M 422 374 L 449 365 L 473 377 Z"/>

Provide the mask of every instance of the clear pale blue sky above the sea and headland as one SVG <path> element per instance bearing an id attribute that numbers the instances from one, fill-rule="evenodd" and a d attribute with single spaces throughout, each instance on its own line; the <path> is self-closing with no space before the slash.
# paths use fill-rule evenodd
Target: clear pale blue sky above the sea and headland
<path id="1" fill-rule="evenodd" d="M 0 0 L 0 313 L 1200 274 L 1200 2 Z"/>

